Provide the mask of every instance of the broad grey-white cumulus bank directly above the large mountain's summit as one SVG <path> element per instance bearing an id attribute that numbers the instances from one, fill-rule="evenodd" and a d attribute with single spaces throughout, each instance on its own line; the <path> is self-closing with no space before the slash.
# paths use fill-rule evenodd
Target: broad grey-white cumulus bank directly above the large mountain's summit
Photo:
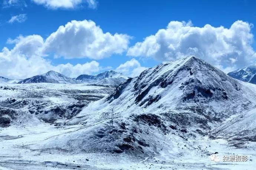
<path id="1" fill-rule="evenodd" d="M 194 27 L 191 21 L 171 21 L 142 42 L 130 47 L 128 56 L 154 57 L 171 61 L 187 55 L 196 55 L 223 70 L 243 67 L 256 59 L 252 48 L 252 24 L 236 21 L 230 28 Z"/>

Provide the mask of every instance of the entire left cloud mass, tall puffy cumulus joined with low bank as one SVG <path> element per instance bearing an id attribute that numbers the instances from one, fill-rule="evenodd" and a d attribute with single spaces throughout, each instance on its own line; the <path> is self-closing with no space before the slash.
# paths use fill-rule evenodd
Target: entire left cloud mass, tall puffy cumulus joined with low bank
<path id="1" fill-rule="evenodd" d="M 83 64 L 53 65 L 47 55 L 65 58 L 87 57 L 101 59 L 112 54 L 121 54 L 128 48 L 129 36 L 103 33 L 93 21 L 71 21 L 52 33 L 46 39 L 40 35 L 18 36 L 8 39 L 7 44 L 14 44 L 12 49 L 4 47 L 0 52 L 0 75 L 8 78 L 27 78 L 43 74 L 49 70 L 63 73 L 70 77 L 80 74 L 93 74 L 107 69 L 96 61 Z"/>

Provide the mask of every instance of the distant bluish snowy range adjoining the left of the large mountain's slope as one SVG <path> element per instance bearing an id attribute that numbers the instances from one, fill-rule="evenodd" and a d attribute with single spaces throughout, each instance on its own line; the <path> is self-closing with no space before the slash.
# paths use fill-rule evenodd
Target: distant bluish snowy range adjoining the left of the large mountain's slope
<path id="1" fill-rule="evenodd" d="M 98 75 L 79 75 L 76 80 L 86 84 L 115 84 L 119 85 L 123 81 L 127 80 L 128 77 L 122 73 L 111 71 L 105 71 Z"/>

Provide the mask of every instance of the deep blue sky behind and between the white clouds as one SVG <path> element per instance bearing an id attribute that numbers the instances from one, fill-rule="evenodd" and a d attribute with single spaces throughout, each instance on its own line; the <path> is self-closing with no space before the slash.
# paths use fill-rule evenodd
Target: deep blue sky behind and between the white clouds
<path id="1" fill-rule="evenodd" d="M 96 61 L 99 63 L 99 69 L 95 69 L 95 71 L 88 71 L 84 69 L 82 73 L 85 74 L 96 74 L 101 71 L 105 71 L 107 69 L 116 69 L 120 65 L 124 64 L 127 61 L 131 61 L 133 58 L 138 61 L 134 65 L 130 63 L 127 65 L 122 65 L 119 71 L 124 72 L 127 75 L 131 75 L 132 69 L 140 67 L 143 70 L 148 67 L 153 67 L 157 64 L 160 64 L 163 61 L 170 61 L 173 59 L 177 59 L 181 57 L 181 55 L 177 55 L 179 53 L 178 49 L 183 47 L 175 47 L 175 50 L 168 51 L 168 49 L 163 48 L 163 44 L 161 46 L 161 51 L 163 52 L 156 52 L 149 54 L 146 50 L 140 49 L 151 49 L 151 46 L 143 46 L 139 45 L 137 48 L 139 50 L 134 50 L 128 52 L 130 55 L 127 55 L 127 51 L 130 47 L 134 47 L 134 45 L 138 42 L 144 42 L 144 39 L 150 35 L 155 35 L 158 30 L 166 29 L 168 23 L 171 21 L 185 21 L 190 27 L 199 27 L 203 28 L 206 24 L 210 24 L 210 26 L 217 28 L 223 26 L 224 28 L 229 29 L 233 23 L 237 20 L 242 20 L 247 22 L 250 26 L 249 31 L 247 34 L 242 34 L 241 36 L 246 36 L 249 34 L 255 35 L 256 34 L 256 1 L 249 1 L 249 0 L 237 0 L 237 1 L 204 1 L 204 0 L 195 0 L 195 1 L 167 1 L 167 0 L 148 0 L 148 1 L 138 1 L 138 0 L 129 0 L 129 1 L 118 1 L 118 0 L 91 0 L 96 3 L 94 7 L 88 5 L 88 2 L 82 1 L 81 3 L 76 4 L 73 7 L 52 7 L 44 3 L 43 1 L 50 1 L 50 0 L 24 0 L 24 1 L 17 1 L 17 0 L 6 0 L 3 1 L 0 8 L 0 48 L 3 49 L 7 47 L 10 51 L 17 45 L 17 41 L 13 41 L 12 43 L 7 43 L 7 40 L 17 40 L 19 35 L 22 35 L 23 38 L 29 35 L 40 35 L 43 38 L 43 41 L 49 37 L 50 34 L 54 33 L 58 30 L 59 26 L 65 26 L 68 22 L 72 20 L 76 21 L 83 21 L 83 20 L 92 20 L 96 26 L 99 26 L 103 33 L 109 32 L 112 35 L 115 33 L 117 34 L 125 34 L 128 35 L 128 46 L 122 49 L 122 52 L 109 52 L 108 56 L 101 56 L 99 58 L 89 57 L 87 55 L 79 56 L 76 58 L 75 56 L 69 57 L 70 52 L 68 52 L 67 56 L 59 56 L 56 58 L 55 50 L 51 49 L 50 52 L 42 56 L 43 59 L 47 60 L 51 64 L 51 68 L 53 66 L 58 66 L 60 64 L 67 64 L 70 63 L 71 65 L 75 66 L 76 64 L 84 64 L 86 62 Z M 70 0 L 72 1 L 72 0 Z M 10 21 L 13 16 L 19 16 L 20 14 L 25 14 L 25 18 L 22 21 L 14 20 Z M 187 26 L 188 26 L 187 25 Z M 241 25 L 241 24 L 240 24 Z M 254 26 L 253 26 L 254 25 Z M 185 27 L 185 25 L 184 25 Z M 246 26 L 245 26 L 246 27 Z M 238 28 L 237 28 L 238 29 Z M 239 31 L 239 30 L 238 30 Z M 223 33 L 225 34 L 225 33 Z M 239 34 L 239 32 L 238 32 Z M 184 34 L 181 34 L 180 37 L 183 37 Z M 81 37 L 81 38 L 87 38 Z M 222 35 L 223 36 L 223 35 Z M 207 36 L 206 36 L 207 37 Z M 156 39 L 157 36 L 155 36 Z M 236 41 L 237 37 L 232 37 L 230 40 Z M 239 37 L 238 37 L 239 38 Z M 243 37 L 242 37 L 243 38 Z M 163 38 L 164 41 L 165 38 Z M 68 41 L 68 40 L 63 40 Z M 186 40 L 187 41 L 187 40 Z M 209 40 L 210 41 L 210 40 Z M 240 41 L 240 39 L 239 39 Z M 253 55 L 255 54 L 255 38 L 247 38 L 247 43 L 249 43 L 248 48 L 251 52 L 247 53 L 245 47 L 243 47 L 242 54 L 234 54 L 233 52 L 229 52 L 225 54 L 224 59 L 220 59 L 220 56 L 216 58 L 209 58 L 207 55 L 214 55 L 209 53 L 209 51 L 204 52 L 205 50 L 201 50 L 201 45 L 198 47 L 194 47 L 189 43 L 186 44 L 187 48 L 197 48 L 199 51 L 203 52 L 196 52 L 195 54 L 203 54 L 203 56 L 198 56 L 206 61 L 210 62 L 211 64 L 219 67 L 223 71 L 230 71 L 232 69 L 236 69 L 239 67 L 243 67 L 247 64 L 253 64 L 255 62 L 255 58 Z M 148 41 L 150 42 L 150 41 Z M 174 41 L 176 42 L 176 40 Z M 195 42 L 192 40 L 192 42 Z M 167 44 L 170 44 L 169 40 Z M 200 42 L 199 42 L 200 43 Z M 203 43 L 203 42 L 202 42 Z M 145 43 L 147 44 L 147 43 Z M 159 43 L 158 43 L 159 44 Z M 166 44 L 166 43 L 164 43 Z M 210 45 L 216 45 L 219 43 L 214 43 Z M 52 45 L 52 44 L 51 44 Z M 109 45 L 109 44 L 107 44 Z M 193 46 L 193 47 L 192 47 Z M 232 48 L 234 44 L 230 45 L 229 49 Z M 247 44 L 248 46 L 248 44 Z M 119 47 L 116 47 L 119 48 Z M 115 50 L 116 50 L 115 48 Z M 26 47 L 27 49 L 27 47 Z M 219 49 L 219 48 L 218 48 Z M 226 48 L 225 48 L 226 49 Z M 241 49 L 237 47 L 236 49 Z M 232 48 L 231 51 L 237 51 L 236 49 Z M 23 50 L 22 50 L 23 51 Z M 187 51 L 187 49 L 186 49 Z M 211 50 L 213 51 L 213 50 Z M 218 50 L 215 50 L 218 51 Z M 248 50 L 247 50 L 248 51 Z M 168 53 L 168 55 L 167 55 Z M 183 55 L 186 55 L 184 51 L 181 51 Z M 192 52 L 193 53 L 193 52 Z M 191 54 L 192 54 L 191 53 Z M 223 53 L 223 52 L 222 52 Z M 20 53 L 19 53 L 20 54 Z M 59 54 L 63 54 L 59 52 Z M 65 53 L 66 54 L 66 53 Z M 80 53 L 79 53 L 80 54 Z M 161 57 L 159 55 L 165 55 L 167 57 Z M 170 54 L 170 55 L 169 55 Z M 179 53 L 180 54 L 180 53 Z M 190 54 L 188 52 L 188 54 Z M 194 54 L 194 53 L 193 53 Z M 2 54 L 6 55 L 6 54 Z M 16 55 L 16 54 L 10 54 Z M 26 54 L 24 54 L 26 55 Z M 39 54 L 37 54 L 39 55 Z M 171 56 L 175 55 L 175 57 Z M 232 57 L 234 55 L 235 57 Z M 242 57 L 240 55 L 243 55 Z M 55 56 L 55 57 L 54 57 Z M 221 54 L 223 56 L 223 54 Z M 228 57 L 227 57 L 228 56 Z M 246 56 L 246 57 L 244 57 Z M 252 58 L 249 58 L 249 57 Z M 0 55 L 1 57 L 1 55 Z M 9 56 L 12 57 L 12 56 Z M 23 56 L 24 57 L 24 56 Z M 27 56 L 25 56 L 27 57 Z M 30 58 L 30 57 L 27 57 Z M 232 64 L 227 61 L 227 58 L 233 58 L 234 62 Z M 26 59 L 26 58 L 25 58 Z M 232 59 L 232 61 L 233 61 Z M 134 61 L 134 60 L 133 60 Z M 0 60 L 1 62 L 1 60 Z M 231 60 L 230 60 L 231 62 Z M 5 64 L 2 62 L 1 64 Z M 10 67 L 13 67 L 13 63 L 9 64 Z M 14 64 L 16 69 L 10 69 L 6 67 L 4 70 L 0 70 L 0 74 L 9 77 L 20 77 L 23 78 L 25 75 L 21 75 L 18 72 L 22 71 L 19 70 L 21 68 L 17 67 L 17 64 Z M 29 65 L 28 65 L 29 67 Z M 30 68 L 33 69 L 33 68 Z M 31 72 L 31 74 L 40 74 L 43 73 L 47 69 L 39 69 L 35 72 Z M 56 68 L 57 69 L 57 68 Z M 74 72 L 70 73 L 66 69 L 60 69 L 57 71 L 62 71 L 63 73 L 69 74 L 69 76 L 76 76 L 76 74 L 80 74 L 81 72 Z M 72 69 L 72 68 L 71 68 Z M 8 72 L 7 70 L 10 70 Z M 17 73 L 11 73 L 16 71 Z M 41 72 L 42 71 L 42 72 Z M 29 71 L 30 72 L 30 71 Z M 72 72 L 72 71 L 71 71 Z M 138 73 L 139 74 L 139 71 Z M 135 74 L 134 74 L 135 75 Z M 30 74 L 29 74 L 30 76 Z"/>

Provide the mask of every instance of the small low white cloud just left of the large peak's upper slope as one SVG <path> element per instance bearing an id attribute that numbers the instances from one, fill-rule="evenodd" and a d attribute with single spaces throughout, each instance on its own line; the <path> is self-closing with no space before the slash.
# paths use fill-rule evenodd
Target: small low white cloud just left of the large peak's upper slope
<path id="1" fill-rule="evenodd" d="M 120 64 L 115 71 L 121 72 L 129 77 L 135 77 L 141 74 L 142 71 L 148 69 L 147 67 L 142 67 L 140 62 L 132 58 L 131 60 Z"/>

